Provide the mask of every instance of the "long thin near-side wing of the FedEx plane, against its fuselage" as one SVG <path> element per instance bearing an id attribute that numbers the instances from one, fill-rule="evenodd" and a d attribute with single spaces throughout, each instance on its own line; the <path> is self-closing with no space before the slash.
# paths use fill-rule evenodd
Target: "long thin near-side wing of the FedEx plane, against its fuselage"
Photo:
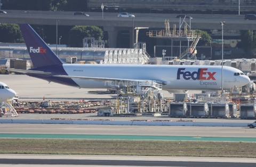
<path id="1" fill-rule="evenodd" d="M 149 84 L 152 83 L 152 81 L 157 82 L 157 84 L 166 85 L 167 83 L 165 81 L 160 80 L 140 80 L 140 79 L 124 79 L 124 78 L 102 78 L 102 77 L 80 77 L 80 76 L 63 76 L 63 75 L 55 75 L 53 77 L 62 77 L 62 78 L 77 78 L 77 79 L 85 79 L 85 80 L 96 80 L 96 81 L 114 81 L 114 82 L 149 82 Z"/>

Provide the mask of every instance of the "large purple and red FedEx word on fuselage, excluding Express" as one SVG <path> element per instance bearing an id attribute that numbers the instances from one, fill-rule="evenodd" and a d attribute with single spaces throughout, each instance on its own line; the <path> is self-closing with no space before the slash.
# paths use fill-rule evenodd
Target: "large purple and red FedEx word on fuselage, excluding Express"
<path id="1" fill-rule="evenodd" d="M 185 71 L 186 68 L 179 68 L 177 72 L 177 79 L 182 76 L 185 80 L 216 80 L 214 74 L 216 72 L 207 72 L 207 68 L 198 69 L 197 71 Z"/>

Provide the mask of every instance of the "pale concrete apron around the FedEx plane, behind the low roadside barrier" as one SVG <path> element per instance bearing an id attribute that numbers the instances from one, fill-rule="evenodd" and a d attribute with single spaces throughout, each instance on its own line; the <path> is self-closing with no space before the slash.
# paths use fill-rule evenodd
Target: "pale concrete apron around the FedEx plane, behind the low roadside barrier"
<path id="1" fill-rule="evenodd" d="M 53 102 L 79 102 L 89 100 L 108 100 L 116 99 L 116 94 L 90 94 L 90 91 L 106 91 L 106 89 L 79 89 L 66 85 L 48 82 L 46 80 L 29 77 L 23 74 L 1 75 L 0 81 L 7 84 L 19 96 L 19 101 L 53 101 Z M 160 90 L 164 94 L 164 98 L 173 98 L 173 94 L 168 91 Z M 190 94 L 200 93 L 200 91 L 189 91 Z M 17 118 L 3 116 L 2 119 L 113 119 L 119 121 L 131 120 L 169 120 L 169 121 L 197 121 L 197 122 L 251 122 L 250 120 L 241 119 L 203 119 L 203 118 L 170 118 L 167 115 L 162 116 L 129 116 L 129 117 L 101 117 L 95 113 L 84 114 L 20 114 Z"/>

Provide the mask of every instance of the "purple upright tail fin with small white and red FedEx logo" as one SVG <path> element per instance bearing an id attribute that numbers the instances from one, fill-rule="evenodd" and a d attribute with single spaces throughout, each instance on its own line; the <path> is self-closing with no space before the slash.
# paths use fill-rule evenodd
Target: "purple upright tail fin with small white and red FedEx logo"
<path id="1" fill-rule="evenodd" d="M 29 24 L 19 24 L 19 26 L 34 68 L 64 63 Z"/>

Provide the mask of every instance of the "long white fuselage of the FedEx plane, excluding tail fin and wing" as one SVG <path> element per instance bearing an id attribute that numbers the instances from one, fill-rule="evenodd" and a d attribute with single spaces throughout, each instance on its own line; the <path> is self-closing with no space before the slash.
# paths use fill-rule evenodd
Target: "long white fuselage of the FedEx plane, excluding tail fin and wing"
<path id="1" fill-rule="evenodd" d="M 155 80 L 158 83 L 162 82 L 164 90 L 220 90 L 222 77 L 221 66 L 203 65 L 63 64 L 63 70 L 64 72 L 59 70 L 59 73 L 56 73 L 54 72 L 56 70 L 47 69 L 53 73 L 53 76 L 67 73 L 68 76 L 118 78 L 118 80 L 98 81 L 79 78 L 67 80 L 67 78 L 58 77 L 41 79 L 81 88 L 134 86 L 138 83 L 133 80 Z M 242 71 L 223 66 L 223 89 L 230 89 L 234 86 L 242 87 L 249 81 L 250 79 Z"/>

